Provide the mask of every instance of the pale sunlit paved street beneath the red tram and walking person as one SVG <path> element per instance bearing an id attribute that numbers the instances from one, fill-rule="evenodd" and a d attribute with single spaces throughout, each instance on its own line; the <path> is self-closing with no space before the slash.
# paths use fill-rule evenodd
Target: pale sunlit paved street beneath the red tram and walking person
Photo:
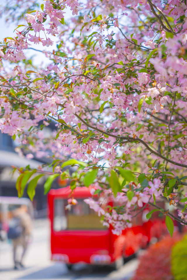
<path id="1" fill-rule="evenodd" d="M 131 278 L 138 261 L 131 260 L 118 271 L 78 264 L 68 271 L 64 264 L 50 261 L 49 223 L 47 220 L 36 220 L 24 264 L 24 269 L 13 270 L 11 244 L 0 242 L 0 280 L 127 280 Z"/>

